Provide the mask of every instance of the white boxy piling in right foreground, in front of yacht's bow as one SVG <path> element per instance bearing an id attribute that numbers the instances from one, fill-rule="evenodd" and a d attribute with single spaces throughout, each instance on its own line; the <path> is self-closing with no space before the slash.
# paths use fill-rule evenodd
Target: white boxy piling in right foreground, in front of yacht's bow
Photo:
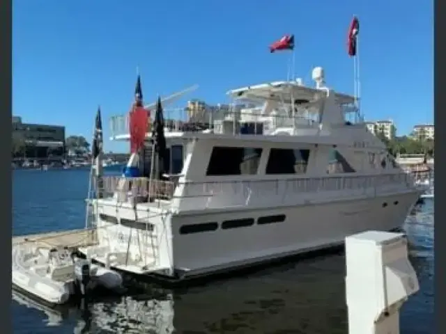
<path id="1" fill-rule="evenodd" d="M 349 334 L 399 334 L 399 310 L 420 287 L 401 233 L 346 237 Z"/>

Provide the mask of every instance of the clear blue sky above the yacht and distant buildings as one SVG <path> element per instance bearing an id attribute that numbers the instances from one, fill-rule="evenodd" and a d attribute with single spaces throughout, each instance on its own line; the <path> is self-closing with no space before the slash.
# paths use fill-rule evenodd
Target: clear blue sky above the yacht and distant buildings
<path id="1" fill-rule="evenodd" d="M 311 84 L 322 66 L 328 86 L 353 93 L 353 14 L 366 118 L 392 118 L 399 134 L 432 123 L 433 1 L 401 0 L 15 0 L 13 114 L 90 140 L 100 104 L 107 137 L 109 116 L 129 110 L 137 67 L 146 102 L 192 84 L 176 106 L 229 102 L 231 88 L 286 79 L 289 55 L 268 51 L 284 33 L 295 34 L 296 77 Z"/>

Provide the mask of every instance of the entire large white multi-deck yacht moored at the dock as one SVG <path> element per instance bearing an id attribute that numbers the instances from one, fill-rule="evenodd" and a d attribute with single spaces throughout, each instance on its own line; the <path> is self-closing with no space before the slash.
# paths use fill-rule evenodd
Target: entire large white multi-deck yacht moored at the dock
<path id="1" fill-rule="evenodd" d="M 230 90 L 234 103 L 197 122 L 164 127 L 164 177 L 151 175 L 151 131 L 128 168 L 102 177 L 98 244 L 82 251 L 131 273 L 195 278 L 393 230 L 420 196 L 355 98 L 325 85 L 277 81 Z M 244 104 L 242 104 L 244 103 Z M 112 139 L 129 141 L 125 117 Z"/>

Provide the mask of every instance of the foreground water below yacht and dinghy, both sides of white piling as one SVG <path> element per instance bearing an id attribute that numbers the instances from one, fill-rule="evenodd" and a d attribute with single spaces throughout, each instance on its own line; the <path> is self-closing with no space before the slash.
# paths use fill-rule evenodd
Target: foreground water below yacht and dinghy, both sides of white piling
<path id="1" fill-rule="evenodd" d="M 426 202 L 403 227 L 420 292 L 403 306 L 401 332 L 433 333 L 433 205 Z M 201 287 L 139 283 L 142 294 L 59 315 L 41 310 L 41 317 L 61 326 L 54 333 L 347 333 L 344 276 L 344 255 L 330 255 Z"/>

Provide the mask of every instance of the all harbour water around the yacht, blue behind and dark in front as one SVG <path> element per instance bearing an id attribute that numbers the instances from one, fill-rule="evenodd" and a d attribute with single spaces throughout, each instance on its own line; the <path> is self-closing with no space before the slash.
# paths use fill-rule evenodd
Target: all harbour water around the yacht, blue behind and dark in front
<path id="1" fill-rule="evenodd" d="M 82 228 L 89 170 L 15 170 L 13 234 Z M 401 333 L 433 329 L 433 202 L 404 228 L 420 292 L 401 313 Z M 202 287 L 145 293 L 55 312 L 12 302 L 14 333 L 347 333 L 344 256 L 270 267 Z"/>

